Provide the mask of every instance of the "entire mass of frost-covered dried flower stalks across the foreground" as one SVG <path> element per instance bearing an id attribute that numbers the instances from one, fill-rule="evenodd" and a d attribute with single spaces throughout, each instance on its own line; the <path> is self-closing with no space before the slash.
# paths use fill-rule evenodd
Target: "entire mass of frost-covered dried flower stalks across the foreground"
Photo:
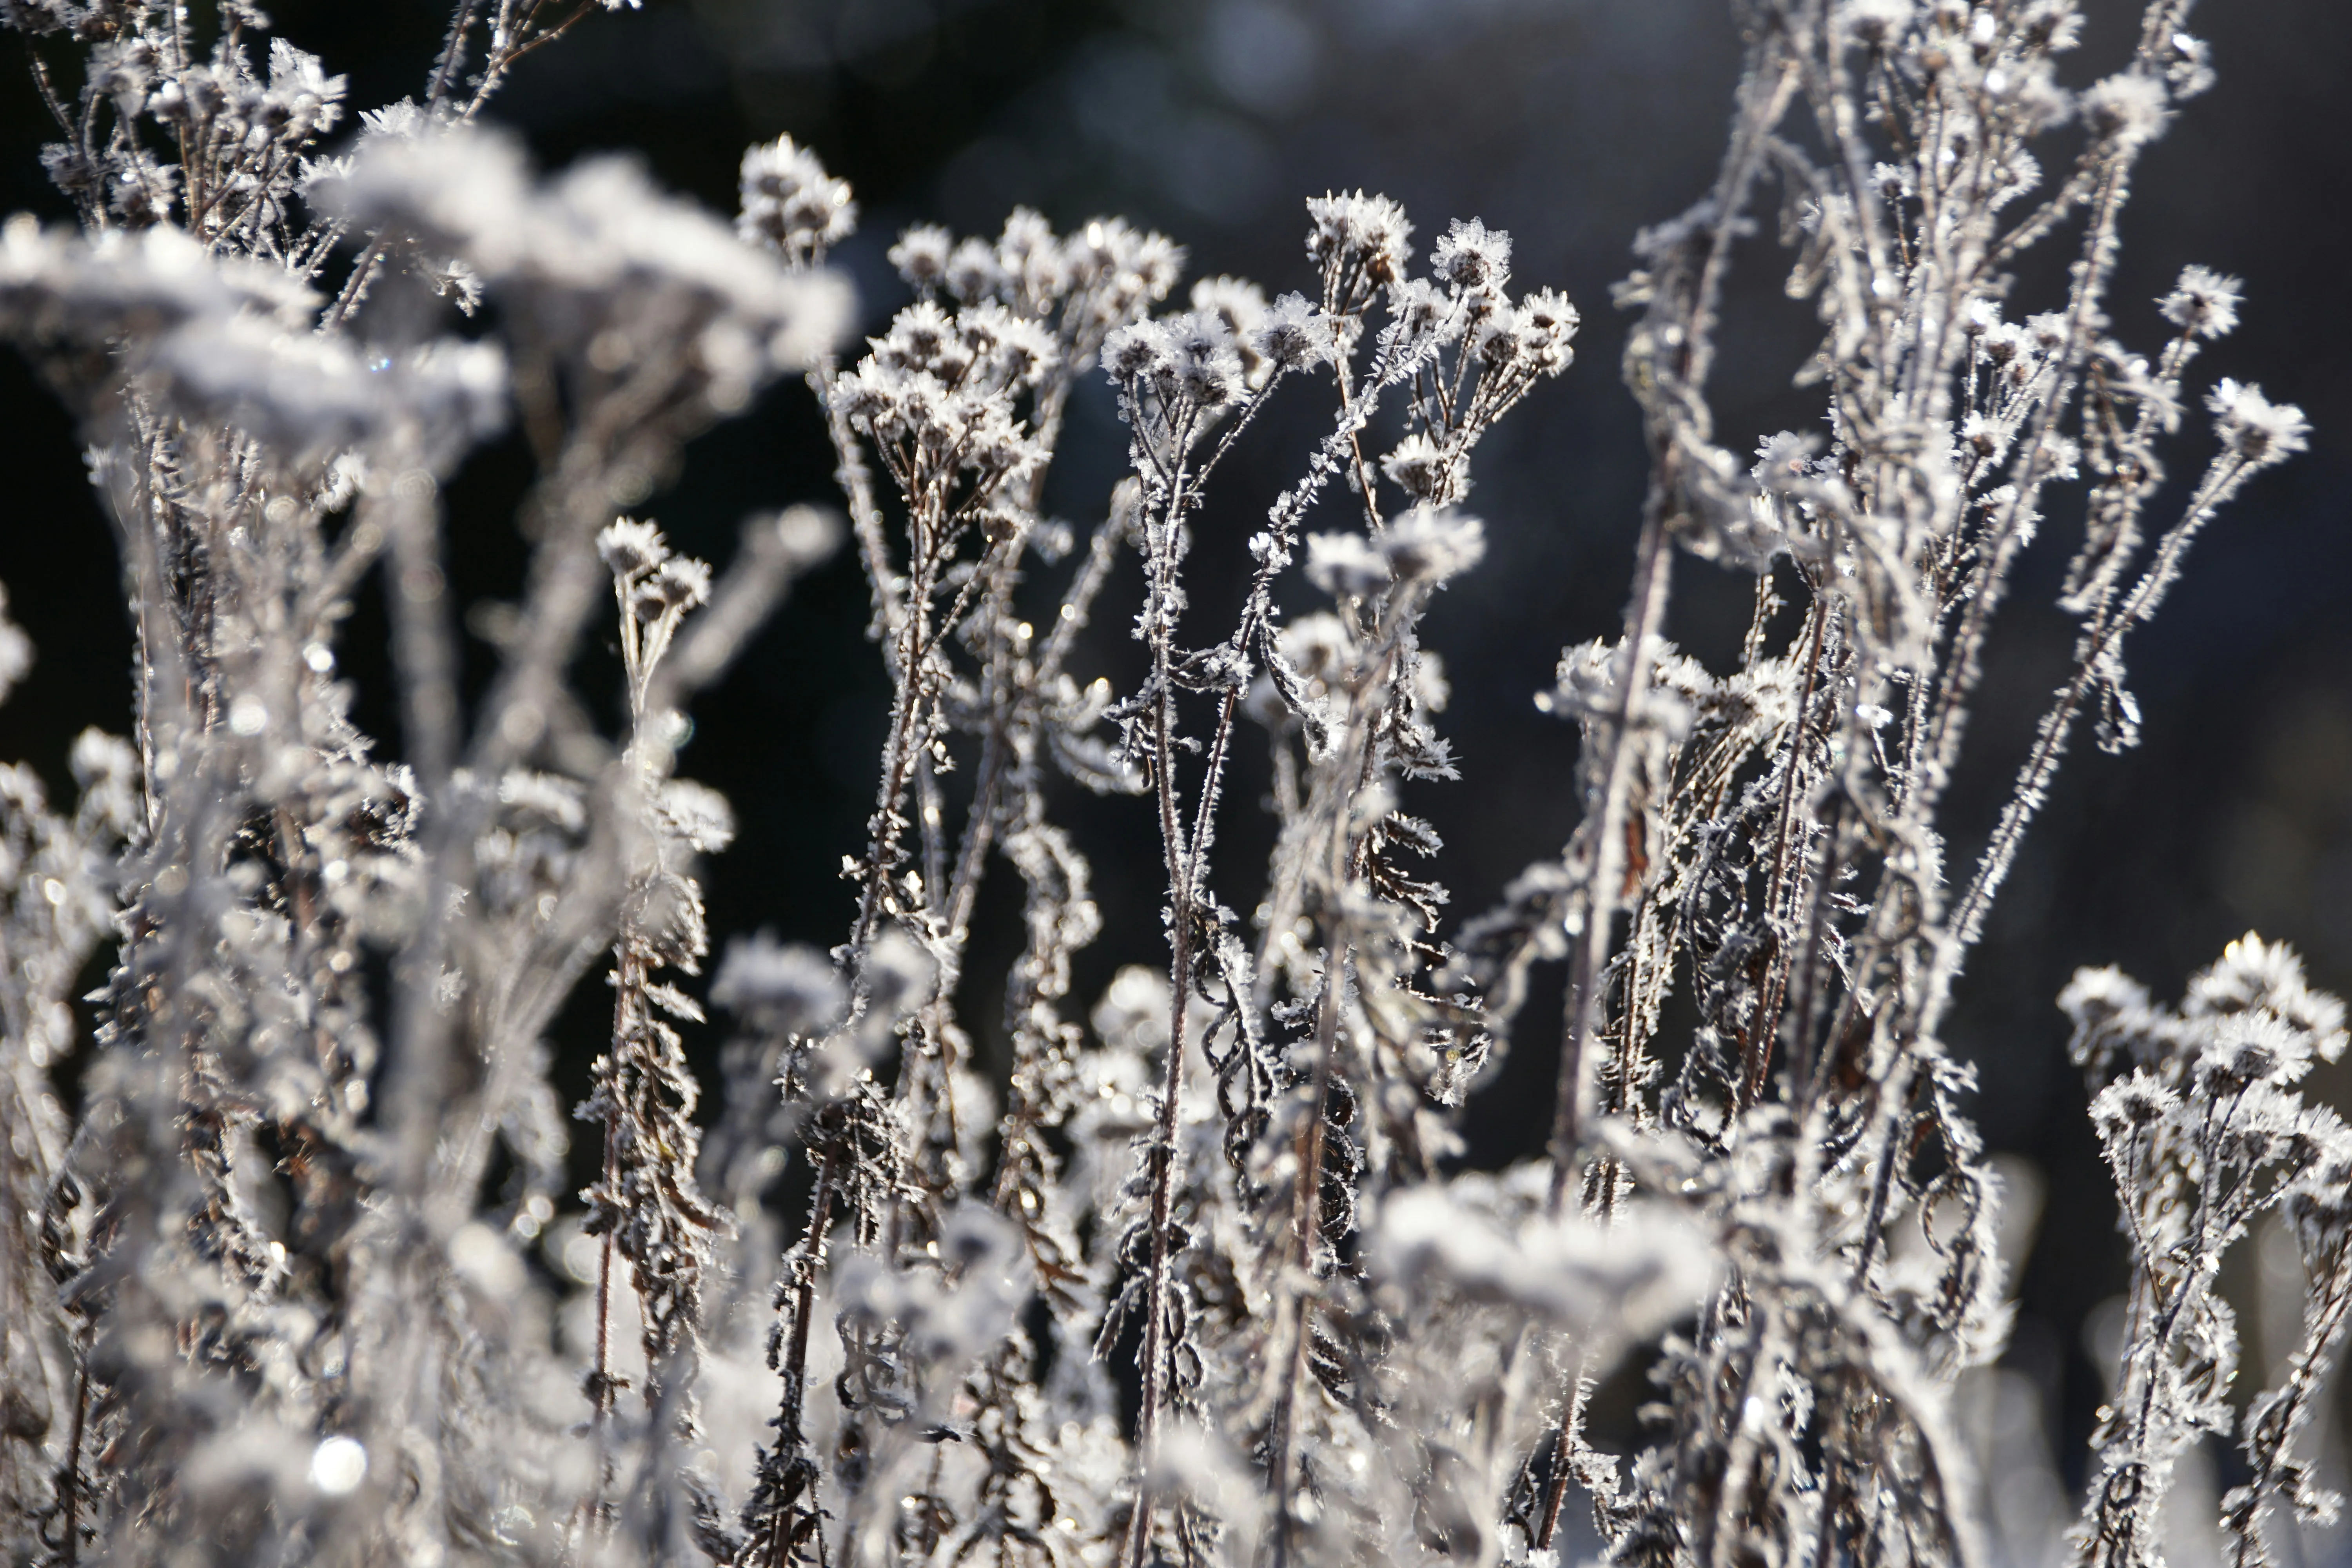
<path id="1" fill-rule="evenodd" d="M 727 221 L 485 122 L 595 9 L 456 0 L 416 96 L 353 120 L 245 0 L 0 0 L 80 214 L 7 219 L 0 334 L 82 423 L 139 649 L 73 802 L 0 769 L 12 1561 L 2305 1561 L 2352 1133 L 2296 1084 L 2343 1004 L 2258 936 L 2178 1004 L 2114 971 L 2053 999 L 2133 1258 L 2072 1519 L 2018 1505 L 2058 1481 L 1987 1415 L 2013 1194 L 1943 1034 L 2067 745 L 2133 745 L 2133 630 L 2305 444 L 2194 374 L 2237 280 L 2185 266 L 2164 341 L 2110 336 L 2136 160 L 2211 80 L 2185 0 L 2082 71 L 2072 0 L 1733 7 L 1719 172 L 1611 301 L 1651 454 L 1623 630 L 1536 693 L 1581 825 L 1468 917 L 1404 792 L 1477 790 L 1442 715 L 1479 672 L 1423 618 L 1541 524 L 1465 510 L 1472 458 L 1578 306 L 1477 219 L 1324 193 L 1265 287 L 1110 216 L 917 226 L 910 303 L 854 343 L 858 207 L 809 148 L 750 148 Z M 1726 273 L 1773 233 L 1823 421 L 1719 430 Z M 837 512 L 708 564 L 626 515 L 790 378 Z M 1127 477 L 1073 527 L 1042 494 L 1087 378 Z M 1202 498 L 1275 400 L 1322 435 L 1209 623 Z M 456 604 L 445 487 L 508 425 L 524 592 Z M 1966 860 L 1947 783 L 2044 531 L 2072 675 Z M 837 550 L 891 691 L 842 940 L 715 940 L 734 818 L 677 773 L 687 715 Z M 1684 555 L 1752 574 L 1736 665 L 1668 639 Z M 1105 637 L 1141 679 L 1087 668 Z M 0 614 L 0 696 L 31 658 Z M 1263 865 L 1218 853 L 1244 748 Z M 1070 785 L 1164 870 L 1164 964 L 1091 1004 Z M 1021 952 L 969 1018 L 988 877 Z M 597 980 L 564 1105 L 550 1027 Z M 1468 1168 L 1456 1112 L 1512 1048 L 1557 1053 L 1550 1154 Z M 2267 1237 L 2300 1326 L 2260 1387 L 2220 1272 Z M 1621 1366 L 1653 1403 L 1613 1453 Z"/>

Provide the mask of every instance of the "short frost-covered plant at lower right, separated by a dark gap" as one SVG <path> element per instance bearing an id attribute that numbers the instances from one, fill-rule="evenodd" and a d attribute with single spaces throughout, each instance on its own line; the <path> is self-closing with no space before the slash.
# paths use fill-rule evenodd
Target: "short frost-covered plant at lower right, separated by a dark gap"
<path id="1" fill-rule="evenodd" d="M 2220 1523 L 2232 1563 L 2272 1563 L 2260 1530 L 2272 1502 L 2317 1523 L 2343 1507 L 2296 1439 L 2352 1312 L 2352 1133 L 2291 1088 L 2343 1056 L 2343 1001 L 2310 990 L 2293 952 L 2246 936 L 2178 1009 L 2112 969 L 2079 971 L 2058 1004 L 2133 1255 L 2124 1366 L 2093 1434 L 2100 1467 L 2077 1542 L 2100 1566 L 2161 1563 L 2152 1526 L 2180 1450 L 2201 1432 L 2241 1432 L 2249 1481 L 2223 1497 Z M 2303 1345 L 2239 1425 L 2237 1319 L 2218 1281 L 2267 1213 L 2284 1215 L 2303 1265 Z"/>

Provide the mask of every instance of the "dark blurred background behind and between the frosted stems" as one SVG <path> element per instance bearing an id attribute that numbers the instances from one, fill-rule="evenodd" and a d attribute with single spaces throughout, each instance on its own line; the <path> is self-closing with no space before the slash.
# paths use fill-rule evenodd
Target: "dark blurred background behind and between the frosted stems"
<path id="1" fill-rule="evenodd" d="M 2086 9 L 2074 85 L 2122 61 L 2136 28 L 2136 7 Z M 273 12 L 285 38 L 350 75 L 353 106 L 416 92 L 447 19 L 435 0 L 287 0 Z M 2122 1246 L 2051 999 L 2079 964 L 2122 964 L 2178 994 L 2249 926 L 2296 943 L 2317 983 L 2352 990 L 2352 7 L 2216 5 L 2197 24 L 2220 85 L 2143 165 L 2112 294 L 2117 331 L 2157 343 L 2152 301 L 2183 263 L 2241 275 L 2244 327 L 2199 371 L 2300 402 L 2312 451 L 2263 475 L 2197 545 L 2161 618 L 2133 637 L 2143 745 L 2124 757 L 2082 745 L 2070 759 L 1950 1027 L 1980 1065 L 1990 1143 L 2046 1182 L 2011 1366 L 2039 1389 L 2070 1474 L 2100 1396 L 2082 1324 L 2122 1286 Z M 1423 249 L 1454 216 L 1510 228 L 1522 284 L 1569 289 L 1585 331 L 1578 367 L 1482 449 L 1472 508 L 1491 555 L 1430 618 L 1428 642 L 1454 682 L 1444 729 L 1468 783 L 1423 788 L 1411 806 L 1446 835 L 1442 875 L 1456 910 L 1475 912 L 1571 827 L 1573 738 L 1529 698 L 1550 684 L 1562 644 L 1613 632 L 1623 611 L 1644 456 L 1616 381 L 1623 324 L 1606 287 L 1625 273 L 1635 230 L 1705 188 L 1736 68 L 1719 0 L 649 0 L 590 16 L 524 61 L 494 115 L 546 165 L 628 148 L 724 212 L 741 148 L 793 132 L 856 183 L 863 230 L 837 261 L 858 282 L 868 329 L 906 299 L 882 261 L 901 226 L 995 233 L 1016 202 L 1058 228 L 1127 214 L 1183 240 L 1192 277 L 1240 273 L 1268 294 L 1310 284 L 1301 200 L 1327 188 L 1399 197 Z M 45 139 L 12 66 L 0 73 L 0 212 L 64 212 L 35 158 Z M 1750 249 L 1717 378 L 1733 447 L 1818 418 L 1818 402 L 1788 388 L 1813 346 L 1811 313 L 1780 299 L 1780 259 Z M 2027 270 L 2018 313 L 2046 308 L 2056 282 Z M 127 719 L 129 635 L 71 423 L 14 357 L 0 360 L 0 581 L 40 654 L 0 708 L 0 757 L 64 788 L 71 736 Z M 1225 614 L 1218 562 L 1322 418 L 1294 400 L 1240 454 L 1202 524 L 1195 602 L 1207 623 Z M 2204 461 L 2197 442 L 2176 468 Z M 1049 505 L 1080 522 L 1098 515 L 1122 454 L 1094 388 L 1073 409 Z M 527 482 L 520 444 L 508 444 L 454 484 L 463 592 L 513 592 L 522 555 L 506 517 Z M 722 557 L 748 510 L 830 494 L 807 390 L 786 386 L 703 437 L 644 510 L 684 548 Z M 2065 670 L 2072 630 L 2051 609 L 2070 548 L 2063 515 L 2051 534 L 1997 639 L 1955 792 L 1955 865 L 1973 863 Z M 1686 562 L 1675 637 L 1722 663 L 1750 588 Z M 884 703 L 863 618 L 863 585 L 842 557 L 701 703 L 682 766 L 722 788 L 743 823 L 708 870 L 720 933 L 774 926 L 830 943 L 847 926 L 835 867 L 863 839 Z M 1103 625 L 1091 661 L 1120 677 L 1131 661 L 1124 618 Z M 350 630 L 362 670 L 381 637 L 381 611 L 362 597 Z M 475 663 L 480 677 L 480 646 Z M 590 689 L 607 663 L 590 656 Z M 372 729 L 395 733 L 381 693 L 369 703 Z M 1244 776 L 1235 804 L 1247 809 L 1256 788 Z M 1068 816 L 1096 856 L 1110 926 L 1080 973 L 1084 1006 L 1117 964 L 1164 961 L 1157 839 L 1134 802 L 1073 799 Z M 1218 891 L 1242 910 L 1261 849 L 1237 816 Z M 997 886 L 990 907 L 1011 914 L 1011 891 Z M 1002 973 L 1009 924 L 983 919 L 974 973 Z M 967 1018 L 995 1051 L 995 1001 L 988 983 L 976 987 Z M 602 1009 L 583 997 L 567 1025 L 572 1077 Z M 1545 1011 L 1538 999 L 1529 1016 Z M 1482 1164 L 1541 1147 L 1550 1072 L 1538 1030 L 1472 1107 Z M 2343 1103 L 2345 1084 L 2324 1074 L 2321 1093 Z"/>

